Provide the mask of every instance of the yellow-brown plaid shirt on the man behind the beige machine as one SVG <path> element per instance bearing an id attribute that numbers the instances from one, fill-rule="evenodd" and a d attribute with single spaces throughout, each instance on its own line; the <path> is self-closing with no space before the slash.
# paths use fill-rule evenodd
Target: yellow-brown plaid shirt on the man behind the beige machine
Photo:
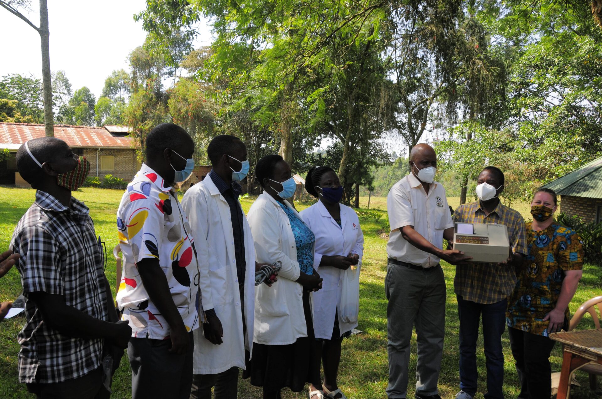
<path id="1" fill-rule="evenodd" d="M 464 204 L 453 214 L 456 223 L 497 223 L 508 230 L 512 252 L 527 254 L 525 223 L 520 213 L 501 204 L 485 215 L 479 201 Z M 470 263 L 456 266 L 453 281 L 454 291 L 464 300 L 476 303 L 495 303 L 506 299 L 517 284 L 517 275 L 512 265 L 496 263 Z"/>

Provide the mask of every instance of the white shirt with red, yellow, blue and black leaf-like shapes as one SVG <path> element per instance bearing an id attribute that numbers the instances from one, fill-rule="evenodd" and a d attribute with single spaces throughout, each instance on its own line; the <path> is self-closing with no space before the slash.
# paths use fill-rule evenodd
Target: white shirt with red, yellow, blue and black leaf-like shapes
<path id="1" fill-rule="evenodd" d="M 199 326 L 196 302 L 199 267 L 188 218 L 178 195 L 166 181 L 143 163 L 128 184 L 117 210 L 117 234 L 124 258 L 117 305 L 132 337 L 162 340 L 170 327 L 144 289 L 137 263 L 157 259 L 167 278 L 173 303 L 188 331 Z"/>

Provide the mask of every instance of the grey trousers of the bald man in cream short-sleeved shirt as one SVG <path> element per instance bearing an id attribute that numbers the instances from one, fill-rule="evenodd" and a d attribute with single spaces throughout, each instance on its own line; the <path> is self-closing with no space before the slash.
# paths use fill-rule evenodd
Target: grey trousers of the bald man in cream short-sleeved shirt
<path id="1" fill-rule="evenodd" d="M 385 293 L 387 352 L 389 356 L 389 399 L 405 398 L 408 391 L 408 365 L 412 327 L 416 326 L 418 362 L 416 394 L 438 394 L 447 291 L 441 266 L 415 270 L 389 263 Z"/>

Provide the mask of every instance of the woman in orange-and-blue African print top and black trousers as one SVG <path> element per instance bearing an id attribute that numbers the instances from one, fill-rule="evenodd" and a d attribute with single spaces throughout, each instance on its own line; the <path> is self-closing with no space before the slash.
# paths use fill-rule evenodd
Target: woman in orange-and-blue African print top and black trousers
<path id="1" fill-rule="evenodd" d="M 582 276 L 583 242 L 576 231 L 556 222 L 556 193 L 539 189 L 527 222 L 529 253 L 517 268 L 517 286 L 508 300 L 506 321 L 512 356 L 521 382 L 519 398 L 550 399 L 551 332 L 568 328 L 568 304 Z"/>

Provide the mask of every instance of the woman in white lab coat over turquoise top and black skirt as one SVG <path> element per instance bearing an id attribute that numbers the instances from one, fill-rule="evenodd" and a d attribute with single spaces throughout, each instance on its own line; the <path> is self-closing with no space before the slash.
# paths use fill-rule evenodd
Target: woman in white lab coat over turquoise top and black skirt
<path id="1" fill-rule="evenodd" d="M 320 377 L 310 365 L 314 328 L 309 291 L 318 290 L 321 278 L 314 270 L 314 234 L 285 198 L 296 183 L 291 168 L 279 155 L 263 157 L 255 176 L 264 192 L 253 203 L 247 220 L 255 240 L 259 263 L 282 264 L 278 282 L 255 290 L 255 329 L 251 384 L 263 387 L 264 399 L 280 398 L 288 386 L 300 392 L 306 382 Z M 317 375 L 317 377 L 316 377 Z M 322 399 L 313 392 L 311 399 Z"/>

